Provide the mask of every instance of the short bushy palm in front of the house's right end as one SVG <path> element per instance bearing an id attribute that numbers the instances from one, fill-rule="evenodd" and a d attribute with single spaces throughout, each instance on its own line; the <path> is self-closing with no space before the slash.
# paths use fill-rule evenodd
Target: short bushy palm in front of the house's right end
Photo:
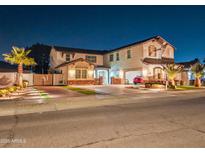
<path id="1" fill-rule="evenodd" d="M 178 73 L 183 71 L 184 67 L 182 65 L 176 64 L 166 64 L 163 65 L 163 70 L 167 73 L 168 79 L 171 81 L 171 86 L 176 88 L 175 78 Z"/>

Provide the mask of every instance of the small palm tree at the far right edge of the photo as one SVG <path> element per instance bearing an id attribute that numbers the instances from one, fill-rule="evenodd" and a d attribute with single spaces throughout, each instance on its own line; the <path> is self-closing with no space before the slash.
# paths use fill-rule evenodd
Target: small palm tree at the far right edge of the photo
<path id="1" fill-rule="evenodd" d="M 191 71 L 195 77 L 195 87 L 201 87 L 201 77 L 204 75 L 205 65 L 201 63 L 196 63 L 192 65 Z"/>

